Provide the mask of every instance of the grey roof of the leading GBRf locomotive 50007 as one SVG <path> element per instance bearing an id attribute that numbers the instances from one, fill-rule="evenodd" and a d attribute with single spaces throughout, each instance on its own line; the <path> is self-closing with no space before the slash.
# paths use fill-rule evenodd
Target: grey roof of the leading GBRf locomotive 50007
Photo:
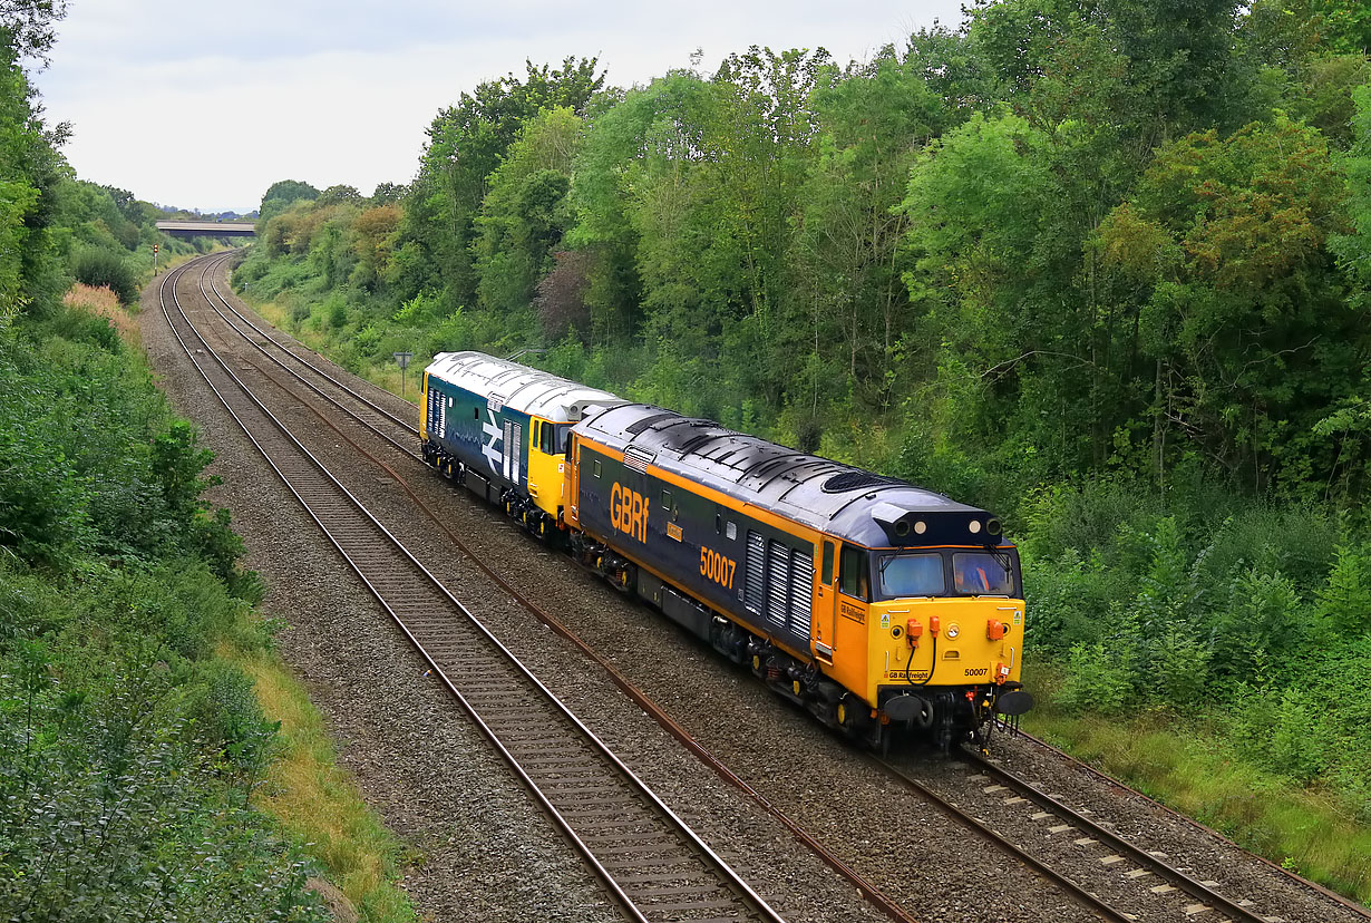
<path id="1" fill-rule="evenodd" d="M 993 517 L 986 510 L 712 420 L 624 403 L 576 429 L 639 462 L 866 547 L 1006 544 L 995 525 L 987 528 Z M 899 520 L 906 527 L 897 534 Z"/>

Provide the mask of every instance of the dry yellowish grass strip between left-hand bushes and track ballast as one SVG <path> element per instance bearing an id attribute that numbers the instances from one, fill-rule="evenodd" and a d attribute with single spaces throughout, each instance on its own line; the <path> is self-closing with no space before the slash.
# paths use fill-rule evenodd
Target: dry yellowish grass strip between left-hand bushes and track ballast
<path id="1" fill-rule="evenodd" d="M 304 687 L 276 651 L 223 643 L 219 656 L 252 678 L 262 710 L 281 723 L 282 752 L 254 798 L 256 805 L 306 843 L 361 920 L 413 923 L 414 908 L 395 885 L 406 850 L 339 768 L 333 742 Z"/>

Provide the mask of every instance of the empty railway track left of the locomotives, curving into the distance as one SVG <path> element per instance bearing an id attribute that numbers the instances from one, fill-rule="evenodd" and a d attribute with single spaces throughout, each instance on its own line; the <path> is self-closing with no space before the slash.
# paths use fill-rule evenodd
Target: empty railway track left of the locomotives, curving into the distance
<path id="1" fill-rule="evenodd" d="M 186 357 L 629 919 L 781 918 L 315 458 L 159 288 Z M 197 348 L 193 343 L 200 343 Z"/>

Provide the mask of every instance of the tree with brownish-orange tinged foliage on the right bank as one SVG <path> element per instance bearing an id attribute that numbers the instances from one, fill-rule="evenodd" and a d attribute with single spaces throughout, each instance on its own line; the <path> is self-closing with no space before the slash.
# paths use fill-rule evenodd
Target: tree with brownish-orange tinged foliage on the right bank
<path id="1" fill-rule="evenodd" d="M 1174 431 L 1254 488 L 1283 466 L 1328 469 L 1311 411 L 1357 380 L 1364 344 L 1328 272 L 1345 196 L 1323 137 L 1281 117 L 1169 145 L 1101 229 L 1106 262 L 1150 283 L 1139 322 L 1158 466 Z"/>

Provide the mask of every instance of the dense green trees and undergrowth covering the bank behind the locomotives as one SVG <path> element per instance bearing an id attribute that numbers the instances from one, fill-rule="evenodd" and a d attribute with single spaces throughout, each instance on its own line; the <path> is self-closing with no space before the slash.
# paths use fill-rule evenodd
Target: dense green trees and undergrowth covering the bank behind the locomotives
<path id="1" fill-rule="evenodd" d="M 391 387 L 532 348 L 995 509 L 1049 710 L 1366 824 L 1368 45 L 1342 0 L 978 0 L 846 66 L 529 64 L 403 189 L 273 187 L 236 284 Z"/>

